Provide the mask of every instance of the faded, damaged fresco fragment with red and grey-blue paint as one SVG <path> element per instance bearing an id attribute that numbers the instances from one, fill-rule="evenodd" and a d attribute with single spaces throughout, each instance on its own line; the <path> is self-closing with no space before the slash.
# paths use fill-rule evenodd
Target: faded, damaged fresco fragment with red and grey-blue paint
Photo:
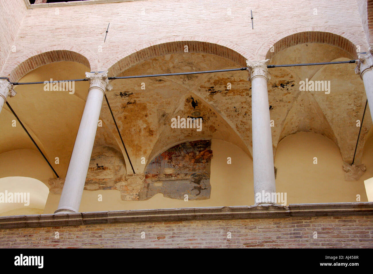
<path id="1" fill-rule="evenodd" d="M 211 141 L 185 142 L 156 156 L 145 170 L 140 200 L 157 193 L 165 197 L 189 200 L 210 198 Z"/>

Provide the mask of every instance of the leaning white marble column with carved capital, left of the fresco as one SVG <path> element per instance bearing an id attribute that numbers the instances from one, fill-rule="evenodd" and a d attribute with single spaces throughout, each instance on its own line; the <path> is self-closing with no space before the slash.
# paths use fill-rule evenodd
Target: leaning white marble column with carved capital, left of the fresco
<path id="1" fill-rule="evenodd" d="M 91 160 L 92 148 L 96 136 L 102 100 L 106 89 L 110 90 L 106 72 L 86 72 L 90 79 L 90 89 L 85 103 L 83 116 L 76 135 L 71 154 L 65 184 L 63 185 L 60 203 L 54 213 L 78 212 L 83 194 L 85 178 Z"/>

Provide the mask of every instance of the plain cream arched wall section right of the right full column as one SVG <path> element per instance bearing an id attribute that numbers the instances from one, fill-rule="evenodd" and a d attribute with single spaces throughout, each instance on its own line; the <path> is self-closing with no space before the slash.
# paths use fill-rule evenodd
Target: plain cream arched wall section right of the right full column
<path id="1" fill-rule="evenodd" d="M 372 146 L 372 144 L 370 144 Z M 315 161 L 317 158 L 317 164 Z M 373 176 L 371 163 L 358 181 L 345 181 L 339 148 L 313 132 L 285 137 L 276 149 L 276 191 L 287 193 L 288 204 L 367 202 L 364 179 Z"/>

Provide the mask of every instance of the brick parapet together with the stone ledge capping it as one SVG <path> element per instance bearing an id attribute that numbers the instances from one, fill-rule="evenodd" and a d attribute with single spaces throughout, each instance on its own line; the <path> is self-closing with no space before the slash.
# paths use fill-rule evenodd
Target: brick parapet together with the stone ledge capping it
<path id="1" fill-rule="evenodd" d="M 369 202 L 26 217 L 0 218 L 0 227 L 10 227 L 0 229 L 0 248 L 373 248 Z M 72 225 L 44 226 L 37 218 Z"/>

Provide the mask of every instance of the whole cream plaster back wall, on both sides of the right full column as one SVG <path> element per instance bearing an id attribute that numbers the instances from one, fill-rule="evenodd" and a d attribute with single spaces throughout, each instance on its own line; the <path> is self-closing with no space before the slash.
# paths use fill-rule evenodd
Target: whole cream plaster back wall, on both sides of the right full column
<path id="1" fill-rule="evenodd" d="M 373 143 L 366 145 L 373 149 Z M 213 207 L 253 205 L 253 162 L 241 149 L 228 142 L 212 139 L 211 198 L 204 201 L 179 201 L 157 194 L 147 201 L 122 201 L 117 190 L 84 190 L 80 211 L 140 210 L 180 207 Z M 232 164 L 227 164 L 227 157 Z M 313 164 L 317 157 L 317 164 Z M 300 132 L 284 138 L 275 159 L 278 168 L 276 191 L 286 192 L 287 204 L 319 202 L 361 202 L 367 195 L 364 179 L 373 176 L 373 166 L 367 162 L 367 171 L 359 181 L 345 181 L 338 147 L 326 137 Z M 98 202 L 97 195 L 103 195 Z M 50 193 L 44 213 L 53 213 L 60 195 Z"/>

